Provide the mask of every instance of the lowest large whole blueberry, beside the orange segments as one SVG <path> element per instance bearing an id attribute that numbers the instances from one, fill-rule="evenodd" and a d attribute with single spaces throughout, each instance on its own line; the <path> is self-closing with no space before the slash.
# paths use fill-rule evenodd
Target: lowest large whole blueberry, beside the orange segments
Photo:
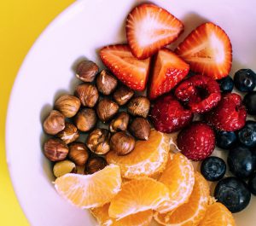
<path id="1" fill-rule="evenodd" d="M 215 190 L 214 197 L 230 212 L 241 212 L 246 208 L 251 200 L 251 193 L 247 184 L 236 177 L 226 177 L 219 181 Z"/>

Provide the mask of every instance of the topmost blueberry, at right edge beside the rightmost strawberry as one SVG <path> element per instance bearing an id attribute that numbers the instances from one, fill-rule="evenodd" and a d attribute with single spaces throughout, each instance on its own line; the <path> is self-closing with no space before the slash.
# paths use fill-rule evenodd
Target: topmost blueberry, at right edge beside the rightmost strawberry
<path id="1" fill-rule="evenodd" d="M 253 91 L 256 85 L 256 74 L 251 69 L 240 69 L 235 73 L 234 83 L 241 92 Z"/>

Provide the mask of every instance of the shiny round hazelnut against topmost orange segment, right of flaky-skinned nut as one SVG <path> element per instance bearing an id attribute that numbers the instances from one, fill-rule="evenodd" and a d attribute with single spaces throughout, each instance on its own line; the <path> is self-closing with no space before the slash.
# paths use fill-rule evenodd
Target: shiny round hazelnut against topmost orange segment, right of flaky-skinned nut
<path id="1" fill-rule="evenodd" d="M 118 155 L 131 153 L 135 147 L 135 139 L 125 132 L 117 132 L 110 139 L 110 148 Z"/>

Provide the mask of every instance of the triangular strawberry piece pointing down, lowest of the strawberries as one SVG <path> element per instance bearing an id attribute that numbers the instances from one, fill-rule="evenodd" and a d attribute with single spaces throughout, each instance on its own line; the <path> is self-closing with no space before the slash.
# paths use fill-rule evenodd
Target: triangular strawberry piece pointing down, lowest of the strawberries
<path id="1" fill-rule="evenodd" d="M 172 90 L 189 73 L 189 65 L 169 49 L 160 49 L 154 61 L 148 97 L 154 99 Z"/>

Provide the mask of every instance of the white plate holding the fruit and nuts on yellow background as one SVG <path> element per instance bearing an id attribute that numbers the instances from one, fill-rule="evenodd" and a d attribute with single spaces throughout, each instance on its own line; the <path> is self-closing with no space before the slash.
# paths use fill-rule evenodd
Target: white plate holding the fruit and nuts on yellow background
<path id="1" fill-rule="evenodd" d="M 133 6 L 142 1 L 84 0 L 60 14 L 33 45 L 9 101 L 6 148 L 9 172 L 29 222 L 36 226 L 95 225 L 86 211 L 62 200 L 52 185 L 51 167 L 42 154 L 42 119 L 56 96 L 73 92 L 73 66 L 87 57 L 99 62 L 97 50 L 110 43 L 125 42 L 124 22 Z M 251 0 L 153 0 L 183 20 L 186 36 L 195 26 L 210 20 L 230 36 L 234 63 L 255 68 L 256 2 Z M 101 65 L 101 64 L 100 64 Z M 256 199 L 236 214 L 238 226 L 255 225 Z"/>

